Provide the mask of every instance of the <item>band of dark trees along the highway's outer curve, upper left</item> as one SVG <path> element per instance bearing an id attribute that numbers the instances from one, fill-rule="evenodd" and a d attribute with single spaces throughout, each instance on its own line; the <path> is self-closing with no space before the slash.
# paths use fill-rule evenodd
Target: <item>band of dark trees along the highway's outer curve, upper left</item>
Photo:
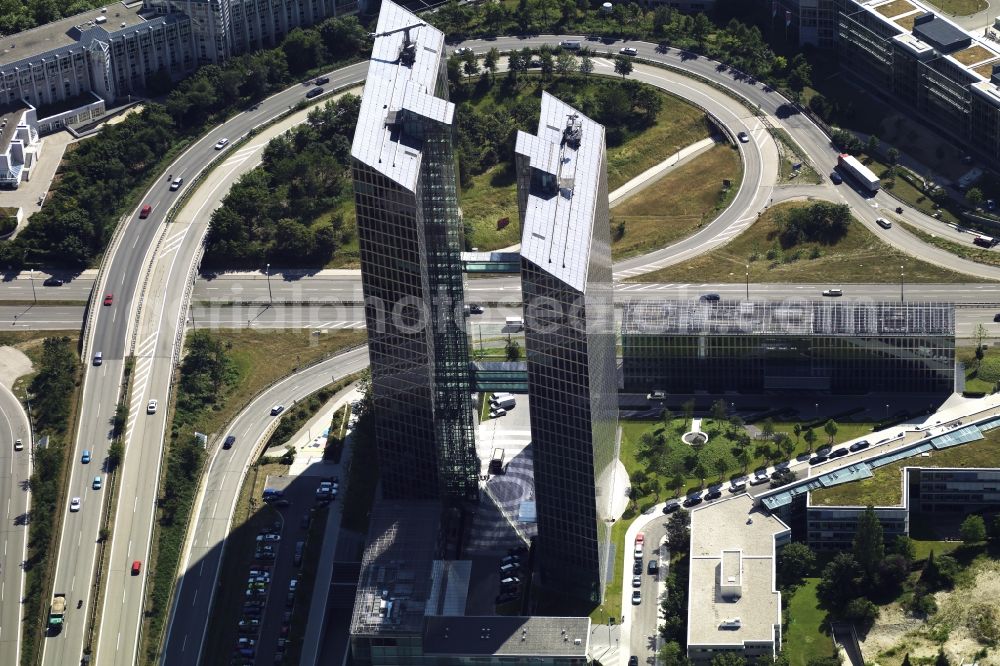
<path id="1" fill-rule="evenodd" d="M 319 40 L 312 59 L 296 55 L 296 40 Z M 0 266 L 62 266 L 81 269 L 101 255 L 136 193 L 150 184 L 167 156 L 203 128 L 294 80 L 309 66 L 358 56 L 367 47 L 355 17 L 329 19 L 288 35 L 285 46 L 240 56 L 225 65 L 206 65 L 173 84 L 166 73 L 151 92 L 172 91 L 164 105 L 105 126 L 96 137 L 68 152 L 59 179 L 43 208 L 17 238 L 0 242 Z M 291 56 L 291 57 L 290 57 Z"/>

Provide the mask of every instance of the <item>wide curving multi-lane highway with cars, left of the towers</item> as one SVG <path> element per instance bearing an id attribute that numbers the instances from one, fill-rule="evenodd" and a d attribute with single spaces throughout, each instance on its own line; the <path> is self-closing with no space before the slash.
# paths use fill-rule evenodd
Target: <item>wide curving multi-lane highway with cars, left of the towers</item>
<path id="1" fill-rule="evenodd" d="M 366 64 L 362 63 L 331 74 L 330 87 L 339 87 L 360 80 L 365 69 Z M 93 293 L 92 302 L 96 310 L 94 321 L 84 341 L 85 359 L 89 360 L 93 352 L 101 351 L 104 354 L 104 363 L 98 367 L 88 366 L 82 391 L 81 414 L 83 416 L 74 447 L 76 461 L 80 460 L 81 452 L 84 449 L 90 449 L 93 452 L 93 462 L 89 465 L 76 462 L 71 469 L 69 492 L 65 505 L 68 506 L 71 497 L 82 497 L 84 502 L 81 510 L 72 516 L 67 516 L 63 525 L 55 575 L 55 589 L 66 592 L 67 600 L 83 600 L 84 608 L 89 608 L 93 601 L 91 594 L 94 589 L 97 535 L 103 504 L 100 501 L 102 494 L 99 493 L 101 491 L 90 493 L 89 496 L 87 491 L 93 476 L 102 471 L 101 468 L 107 457 L 107 449 L 110 445 L 111 417 L 118 401 L 123 359 L 134 350 L 140 363 L 145 363 L 141 369 L 137 363 L 136 378 L 138 381 L 146 382 L 142 391 L 137 395 L 159 395 L 165 398 L 172 371 L 173 355 L 164 352 L 166 349 L 173 350 L 174 340 L 171 339 L 170 334 L 173 329 L 164 329 L 163 335 L 150 334 L 146 329 L 144 337 L 137 339 L 134 328 L 140 314 L 139 306 L 145 299 L 147 305 L 154 304 L 159 308 L 160 320 L 166 326 L 175 325 L 171 322 L 172 317 L 168 311 L 170 306 L 176 308 L 181 303 L 181 292 L 189 284 L 187 272 L 183 269 L 185 266 L 191 266 L 196 260 L 196 250 L 200 245 L 198 233 L 187 233 L 183 229 L 183 220 L 180 221 L 180 224 L 170 225 L 174 228 L 173 231 L 165 229 L 167 211 L 183 194 L 185 188 L 190 187 L 191 181 L 198 172 L 216 157 L 218 153 L 214 149 L 214 144 L 219 139 L 226 137 L 235 142 L 236 138 L 246 134 L 250 129 L 280 115 L 293 104 L 297 104 L 304 98 L 305 92 L 306 89 L 303 86 L 286 89 L 264 100 L 256 109 L 237 114 L 223 125 L 209 131 L 200 141 L 178 157 L 166 169 L 167 173 L 161 174 L 162 178 L 159 182 L 143 197 L 140 206 L 150 204 L 153 207 L 152 215 L 148 219 L 139 220 L 138 208 L 134 210 L 121 232 L 120 239 L 108 250 L 105 272 Z M 260 137 L 255 139 L 255 141 L 262 140 Z M 239 149 L 231 147 L 227 151 L 227 156 L 234 150 Z M 259 149 L 255 154 L 256 161 L 259 161 Z M 244 160 L 245 168 L 243 170 L 249 170 L 256 161 Z M 229 182 L 231 184 L 238 176 L 239 170 L 229 173 L 232 176 Z M 168 187 L 168 175 L 181 176 L 187 182 L 180 191 L 171 192 Z M 206 190 L 215 199 L 215 203 L 198 210 L 197 221 L 202 231 L 207 227 L 208 216 L 212 208 L 224 196 L 228 185 L 225 189 L 221 188 L 222 185 L 214 190 Z M 206 195 L 202 194 L 201 196 Z M 161 238 L 163 241 L 158 245 Z M 145 284 L 147 269 L 152 265 L 157 252 L 159 252 L 160 258 L 173 254 L 170 263 L 175 268 L 171 271 L 170 278 L 158 284 L 157 291 L 144 292 L 144 288 L 147 286 Z M 182 254 L 184 254 L 183 257 Z M 178 275 L 183 275 L 184 279 L 177 281 Z M 50 287 L 49 289 L 54 293 L 62 288 Z M 104 294 L 108 293 L 113 294 L 113 303 L 110 306 L 103 306 L 101 303 Z M 163 314 L 167 314 L 167 316 L 163 316 Z M 160 332 L 160 329 L 157 328 L 157 333 Z M 150 337 L 151 335 L 152 337 Z M 144 361 L 143 359 L 149 360 Z M 146 372 L 145 376 L 143 376 L 144 372 Z M 139 406 L 141 407 L 142 404 Z M 121 569 L 122 562 L 118 557 L 123 552 L 129 554 L 148 552 L 149 529 L 146 528 L 151 527 L 152 524 L 152 507 L 156 487 L 154 484 L 148 483 L 148 476 L 145 475 L 149 469 L 159 469 L 158 452 L 162 445 L 162 419 L 163 412 L 161 411 L 156 418 L 141 421 L 138 427 L 133 421 L 128 431 L 129 439 L 126 442 L 126 455 L 121 474 L 121 484 L 125 493 L 122 494 L 119 503 L 116 525 L 122 527 L 124 525 L 122 521 L 131 521 L 134 518 L 134 522 L 129 523 L 128 531 L 130 534 L 134 534 L 136 539 L 134 541 L 123 539 L 113 532 L 111 565 L 113 574 Z M 135 437 L 140 439 L 134 439 Z M 157 437 L 158 441 L 151 441 L 156 440 Z M 143 441 L 143 439 L 149 443 L 149 446 L 146 444 L 131 446 L 132 441 Z M 142 474 L 143 476 L 130 479 L 130 474 Z M 137 493 L 135 496 L 127 494 L 132 489 Z M 129 507 L 131 507 L 130 511 L 122 510 Z M 126 557 L 129 556 L 131 555 L 126 555 Z M 146 569 L 143 567 L 143 575 L 135 578 L 130 577 L 128 580 L 123 580 L 120 577 L 116 580 L 114 575 L 111 577 L 115 585 L 113 589 L 109 589 L 107 603 L 117 605 L 124 599 L 125 605 L 128 607 L 122 609 L 121 617 L 129 618 L 130 622 L 125 624 L 135 624 L 133 629 L 128 629 L 123 624 L 115 624 L 113 625 L 115 631 L 101 632 L 101 641 L 104 641 L 108 635 L 114 635 L 113 652 L 116 655 L 116 663 L 132 663 L 133 656 L 138 649 L 138 622 L 142 615 L 145 571 Z M 119 592 L 121 592 L 120 595 Z M 125 596 L 126 593 L 129 594 L 128 597 Z M 64 666 L 78 662 L 83 654 L 85 614 L 83 611 L 75 610 L 75 603 L 71 603 L 70 606 L 72 610 L 68 614 L 65 629 L 58 636 L 49 637 L 45 641 L 44 664 Z M 122 643 L 122 632 L 125 632 L 127 639 L 124 644 Z M 110 647 L 105 647 L 105 650 L 105 655 L 112 651 Z"/>

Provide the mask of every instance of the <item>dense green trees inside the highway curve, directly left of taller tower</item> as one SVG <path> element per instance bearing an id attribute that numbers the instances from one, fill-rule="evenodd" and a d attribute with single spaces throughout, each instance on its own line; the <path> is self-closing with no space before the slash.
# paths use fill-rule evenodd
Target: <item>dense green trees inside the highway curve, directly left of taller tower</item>
<path id="1" fill-rule="evenodd" d="M 212 213 L 204 266 L 322 266 L 353 239 L 353 221 L 332 211 L 353 197 L 351 141 L 360 106 L 354 95 L 328 102 L 268 144 L 261 166 Z"/>

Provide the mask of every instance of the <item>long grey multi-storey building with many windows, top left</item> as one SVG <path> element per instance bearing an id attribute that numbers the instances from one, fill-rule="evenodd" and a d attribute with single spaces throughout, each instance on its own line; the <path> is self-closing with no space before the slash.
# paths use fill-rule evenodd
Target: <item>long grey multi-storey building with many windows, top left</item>
<path id="1" fill-rule="evenodd" d="M 36 107 L 42 133 L 79 125 L 144 94 L 154 77 L 177 80 L 356 10 L 356 0 L 145 0 L 91 9 L 0 37 L 0 105 Z"/>

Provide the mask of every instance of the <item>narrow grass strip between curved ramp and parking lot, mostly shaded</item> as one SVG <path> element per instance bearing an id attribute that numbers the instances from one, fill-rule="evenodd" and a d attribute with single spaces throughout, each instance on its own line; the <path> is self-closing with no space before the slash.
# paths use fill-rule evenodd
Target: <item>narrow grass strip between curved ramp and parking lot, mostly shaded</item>
<path id="1" fill-rule="evenodd" d="M 205 646 L 206 664 L 224 664 L 232 656 L 232 646 L 236 644 L 238 635 L 236 622 L 246 600 L 246 575 L 254 563 L 257 534 L 279 519 L 274 507 L 258 502 L 257 498 L 264 491 L 268 475 L 287 473 L 287 465 L 255 465 L 250 468 L 240 488 L 232 531 L 226 539 L 226 552 L 219 566 L 219 586 L 212 602 L 212 612 L 208 615 L 208 635 L 213 640 Z M 288 547 L 291 544 L 283 545 Z"/>

